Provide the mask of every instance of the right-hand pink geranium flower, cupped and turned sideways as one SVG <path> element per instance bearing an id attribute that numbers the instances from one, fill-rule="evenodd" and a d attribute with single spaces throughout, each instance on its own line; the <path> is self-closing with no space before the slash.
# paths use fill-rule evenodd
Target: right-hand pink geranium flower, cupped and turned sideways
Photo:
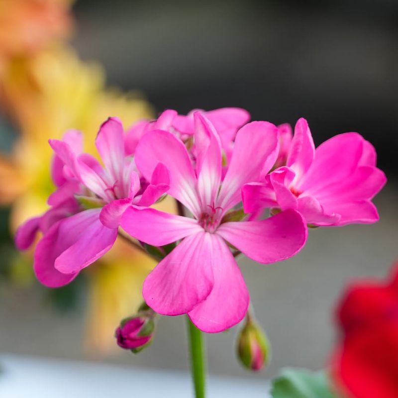
<path id="1" fill-rule="evenodd" d="M 374 147 L 358 133 L 336 135 L 314 147 L 307 121 L 299 119 L 286 167 L 243 187 L 246 212 L 264 207 L 296 209 L 308 224 L 345 225 L 379 219 L 371 199 L 386 183 Z"/>

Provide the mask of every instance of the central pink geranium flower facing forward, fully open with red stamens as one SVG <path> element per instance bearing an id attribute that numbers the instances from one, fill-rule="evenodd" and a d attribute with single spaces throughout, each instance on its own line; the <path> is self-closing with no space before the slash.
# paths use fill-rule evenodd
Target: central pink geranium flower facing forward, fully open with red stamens
<path id="1" fill-rule="evenodd" d="M 195 112 L 196 165 L 186 146 L 170 132 L 154 130 L 139 142 L 135 161 L 144 177 L 161 162 L 170 174 L 168 194 L 183 203 L 193 218 L 153 208 L 129 207 L 122 228 L 153 246 L 181 242 L 147 277 L 143 296 L 156 312 L 188 313 L 206 332 L 225 330 L 245 315 L 249 294 L 229 245 L 268 264 L 296 254 L 306 228 L 295 210 L 257 221 L 228 221 L 228 210 L 241 201 L 241 187 L 258 181 L 278 155 L 277 127 L 251 122 L 235 139 L 228 171 L 221 183 L 221 143 L 212 124 Z"/>

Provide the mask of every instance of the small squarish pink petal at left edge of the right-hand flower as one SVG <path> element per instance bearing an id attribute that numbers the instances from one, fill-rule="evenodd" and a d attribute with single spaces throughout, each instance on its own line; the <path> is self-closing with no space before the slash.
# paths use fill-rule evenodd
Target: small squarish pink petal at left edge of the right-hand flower
<path id="1" fill-rule="evenodd" d="M 273 187 L 265 183 L 245 184 L 242 187 L 242 200 L 245 213 L 255 213 L 278 205 Z"/>

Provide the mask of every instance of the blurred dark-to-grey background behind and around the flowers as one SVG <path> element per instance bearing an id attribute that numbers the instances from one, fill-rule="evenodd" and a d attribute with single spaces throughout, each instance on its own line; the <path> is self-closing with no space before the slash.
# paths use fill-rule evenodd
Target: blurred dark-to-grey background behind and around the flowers
<path id="1" fill-rule="evenodd" d="M 343 287 L 385 276 L 398 259 L 398 1 L 80 0 L 74 12 L 80 56 L 99 60 L 110 84 L 138 89 L 158 112 L 241 106 L 254 120 L 307 118 L 316 144 L 358 131 L 375 145 L 389 177 L 375 200 L 379 223 L 313 230 L 298 256 L 277 265 L 240 262 L 273 346 L 261 377 L 323 367 Z M 0 349 L 83 357 L 79 315 L 45 312 L 31 292 L 8 292 L 8 303 Z M 183 319 L 159 326 L 141 355 L 108 360 L 186 369 Z M 249 376 L 234 360 L 234 334 L 207 337 L 210 372 Z"/>

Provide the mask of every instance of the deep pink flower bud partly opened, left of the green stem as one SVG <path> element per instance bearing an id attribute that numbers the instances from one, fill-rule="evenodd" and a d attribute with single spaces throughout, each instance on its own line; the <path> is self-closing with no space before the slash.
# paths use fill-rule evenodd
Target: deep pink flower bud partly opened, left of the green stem
<path id="1" fill-rule="evenodd" d="M 136 316 L 123 319 L 115 332 L 117 345 L 137 353 L 151 344 L 155 330 L 154 316 L 151 309 L 145 309 L 139 310 Z"/>

